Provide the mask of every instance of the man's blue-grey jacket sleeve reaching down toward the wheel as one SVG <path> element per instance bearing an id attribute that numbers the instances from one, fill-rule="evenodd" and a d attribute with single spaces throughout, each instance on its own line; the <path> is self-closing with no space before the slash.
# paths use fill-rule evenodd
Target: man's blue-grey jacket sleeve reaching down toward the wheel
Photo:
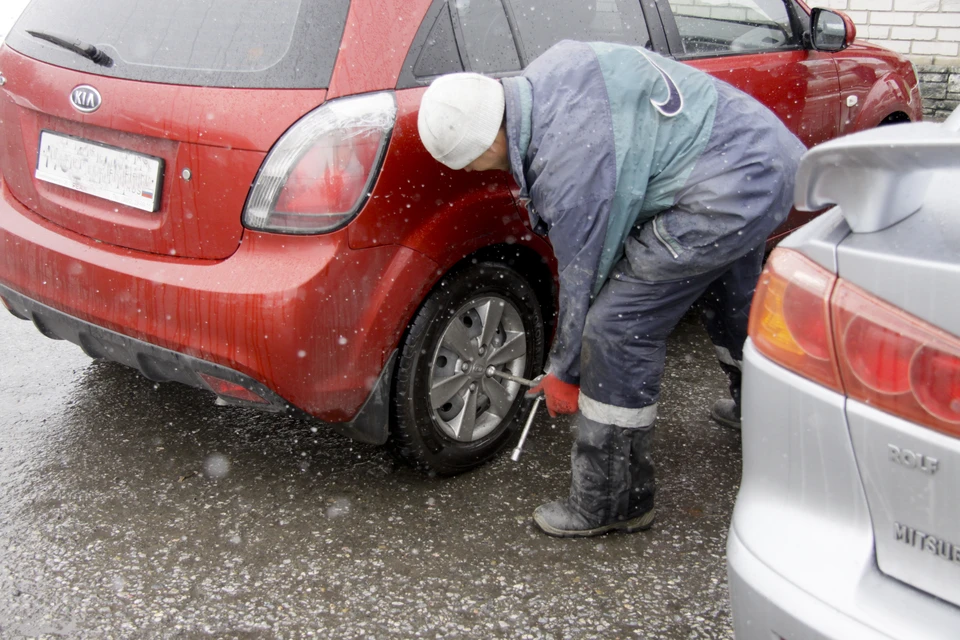
<path id="1" fill-rule="evenodd" d="M 585 43 L 561 42 L 524 72 L 532 134 L 524 172 L 557 258 L 560 300 L 547 372 L 580 379 L 580 344 L 617 186 L 617 147 L 606 81 Z M 527 114 L 524 114 L 526 116 Z M 518 127 L 519 129 L 519 127 Z"/>

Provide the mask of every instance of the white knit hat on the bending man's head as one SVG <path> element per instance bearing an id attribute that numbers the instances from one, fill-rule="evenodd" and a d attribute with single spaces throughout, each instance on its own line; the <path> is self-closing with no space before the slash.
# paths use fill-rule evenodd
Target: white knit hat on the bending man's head
<path id="1" fill-rule="evenodd" d="M 490 148 L 503 122 L 503 86 L 479 73 L 440 76 L 423 94 L 417 128 L 434 158 L 463 169 Z"/>

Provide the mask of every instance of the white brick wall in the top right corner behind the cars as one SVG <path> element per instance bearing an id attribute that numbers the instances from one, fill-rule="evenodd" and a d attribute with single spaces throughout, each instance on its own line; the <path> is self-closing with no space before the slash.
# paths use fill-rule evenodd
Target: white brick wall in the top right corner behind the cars
<path id="1" fill-rule="evenodd" d="M 813 0 L 840 9 L 857 38 L 899 51 L 920 78 L 925 118 L 942 120 L 960 105 L 960 0 Z"/>

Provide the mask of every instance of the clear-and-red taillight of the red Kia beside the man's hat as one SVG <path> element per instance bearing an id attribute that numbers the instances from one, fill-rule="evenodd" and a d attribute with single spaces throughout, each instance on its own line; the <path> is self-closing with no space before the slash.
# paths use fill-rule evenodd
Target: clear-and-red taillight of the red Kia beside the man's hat
<path id="1" fill-rule="evenodd" d="M 328 102 L 293 125 L 267 155 L 243 223 L 280 233 L 323 233 L 363 207 L 396 120 L 391 93 Z"/>

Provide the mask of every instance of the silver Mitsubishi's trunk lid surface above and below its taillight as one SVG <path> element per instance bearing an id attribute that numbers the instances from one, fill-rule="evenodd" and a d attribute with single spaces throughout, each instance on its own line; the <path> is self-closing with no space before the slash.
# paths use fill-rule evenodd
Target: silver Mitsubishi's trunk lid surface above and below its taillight
<path id="1" fill-rule="evenodd" d="M 850 234 L 837 248 L 842 279 L 955 340 L 960 300 L 943 294 L 960 290 L 956 177 L 938 172 L 919 211 L 882 231 Z M 880 569 L 960 605 L 960 440 L 853 400 L 847 415 Z"/>

